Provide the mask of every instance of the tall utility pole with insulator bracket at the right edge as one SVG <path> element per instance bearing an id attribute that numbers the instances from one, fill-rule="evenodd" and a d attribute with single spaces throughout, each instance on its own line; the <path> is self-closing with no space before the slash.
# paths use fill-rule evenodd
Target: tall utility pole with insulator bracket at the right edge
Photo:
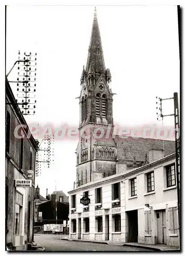
<path id="1" fill-rule="evenodd" d="M 178 204 L 178 223 L 180 227 L 180 123 L 179 123 L 179 108 L 178 108 L 178 94 L 175 92 L 173 97 L 171 98 L 157 98 L 160 100 L 160 103 L 156 102 L 156 104 L 160 104 L 160 108 L 156 107 L 156 109 L 160 110 L 160 114 L 156 113 L 159 117 L 166 117 L 166 116 L 174 116 L 174 127 L 175 127 L 175 161 L 176 161 L 176 183 L 177 183 L 177 204 Z M 174 101 L 174 113 L 169 115 L 163 115 L 162 113 L 162 101 L 163 100 L 170 100 L 173 99 Z M 157 120 L 158 120 L 157 117 Z"/>

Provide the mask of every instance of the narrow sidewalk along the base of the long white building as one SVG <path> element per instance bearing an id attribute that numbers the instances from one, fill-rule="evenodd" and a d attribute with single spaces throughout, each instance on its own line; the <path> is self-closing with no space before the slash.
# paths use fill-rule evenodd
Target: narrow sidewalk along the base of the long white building
<path id="1" fill-rule="evenodd" d="M 165 244 L 139 244 L 139 243 L 122 243 L 114 241 L 95 241 L 95 240 L 83 240 L 83 239 L 69 239 L 68 236 L 61 238 L 61 240 L 85 242 L 85 243 L 96 243 L 96 244 L 109 244 L 109 245 L 119 245 L 119 246 L 131 246 L 144 249 L 151 249 L 154 251 L 174 251 L 179 250 L 176 246 L 169 246 Z"/>

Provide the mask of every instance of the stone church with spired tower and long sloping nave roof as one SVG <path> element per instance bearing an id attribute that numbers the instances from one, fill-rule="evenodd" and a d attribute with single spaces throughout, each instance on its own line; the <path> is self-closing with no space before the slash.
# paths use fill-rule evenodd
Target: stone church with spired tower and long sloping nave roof
<path id="1" fill-rule="evenodd" d="M 81 138 L 76 148 L 76 187 L 149 162 L 158 150 L 161 157 L 174 153 L 173 141 L 133 138 L 113 134 L 113 95 L 110 69 L 105 68 L 97 14 L 94 13 L 86 68 L 81 76 Z M 150 152 L 150 153 L 149 153 Z"/>

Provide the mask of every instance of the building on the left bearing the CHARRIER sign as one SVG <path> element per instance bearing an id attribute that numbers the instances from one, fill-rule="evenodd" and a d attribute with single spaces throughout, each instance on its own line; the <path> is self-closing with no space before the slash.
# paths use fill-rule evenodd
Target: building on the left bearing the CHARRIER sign
<path id="1" fill-rule="evenodd" d="M 6 81 L 6 246 L 24 248 L 33 241 L 35 155 L 38 144 L 17 105 Z M 27 136 L 28 135 L 28 136 Z M 16 186 L 15 180 L 31 187 Z"/>

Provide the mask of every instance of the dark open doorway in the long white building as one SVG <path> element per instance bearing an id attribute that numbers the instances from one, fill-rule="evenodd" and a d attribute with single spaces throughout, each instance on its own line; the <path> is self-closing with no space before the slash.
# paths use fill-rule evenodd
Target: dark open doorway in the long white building
<path id="1" fill-rule="evenodd" d="M 138 243 L 138 210 L 127 211 L 128 242 Z"/>

